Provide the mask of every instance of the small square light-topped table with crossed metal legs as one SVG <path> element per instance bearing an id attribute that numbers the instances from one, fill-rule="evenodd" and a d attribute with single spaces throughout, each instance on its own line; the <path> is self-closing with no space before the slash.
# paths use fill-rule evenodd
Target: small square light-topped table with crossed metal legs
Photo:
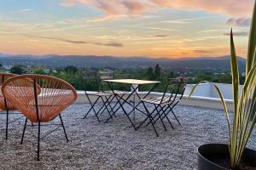
<path id="1" fill-rule="evenodd" d="M 135 130 L 137 130 L 136 126 L 135 126 L 135 110 L 140 111 L 137 109 L 137 105 L 139 105 L 141 102 L 139 102 L 137 105 L 135 105 L 135 96 L 137 96 L 138 99 L 142 99 L 140 97 L 140 95 L 137 93 L 138 88 L 141 85 L 144 84 L 154 84 L 153 88 L 151 88 L 148 93 L 143 97 L 143 99 L 145 99 L 148 94 L 150 94 L 150 92 L 157 86 L 158 83 L 160 82 L 156 82 L 156 81 L 148 81 L 148 80 L 138 80 L 138 79 L 111 79 L 111 80 L 103 80 L 104 82 L 108 83 L 109 88 L 111 88 L 114 98 L 117 100 L 117 102 L 119 103 L 120 108 L 122 109 L 122 111 L 124 111 L 125 116 L 127 116 L 127 118 L 129 119 L 129 121 L 131 122 L 132 127 L 134 127 Z M 114 89 L 113 89 L 113 84 L 112 83 L 125 83 L 125 84 L 130 84 L 131 85 L 131 93 L 129 93 L 129 95 L 127 96 L 126 99 L 124 99 L 125 95 L 119 95 L 114 93 Z M 127 113 L 127 111 L 125 111 L 124 105 L 125 104 L 129 104 L 131 105 L 128 101 L 131 98 L 131 96 L 134 96 L 133 98 L 133 112 L 134 112 L 134 122 L 131 121 L 131 112 Z M 122 100 L 122 101 L 121 101 Z M 116 110 L 117 111 L 117 110 Z M 141 111 L 143 112 L 143 111 Z M 113 115 L 114 115 L 115 111 L 113 111 Z M 112 116 L 113 116 L 112 115 Z M 108 120 L 112 117 L 110 116 L 108 118 Z M 108 122 L 108 120 L 106 122 Z"/>

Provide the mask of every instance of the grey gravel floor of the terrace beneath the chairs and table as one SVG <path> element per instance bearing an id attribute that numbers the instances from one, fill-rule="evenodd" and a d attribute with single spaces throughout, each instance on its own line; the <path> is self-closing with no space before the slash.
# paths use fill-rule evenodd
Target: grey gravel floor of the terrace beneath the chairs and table
<path id="1" fill-rule="evenodd" d="M 94 116 L 81 119 L 88 108 L 71 105 L 63 112 L 70 141 L 66 143 L 61 128 L 51 133 L 41 142 L 41 161 L 36 161 L 37 139 L 31 134 L 37 133 L 36 128 L 28 127 L 20 144 L 22 118 L 11 124 L 5 140 L 5 116 L 1 115 L 0 169 L 196 169 L 199 145 L 227 142 L 223 111 L 177 106 L 182 126 L 170 115 L 175 129 L 168 126 L 164 131 L 159 123 L 160 137 L 156 137 L 151 126 L 134 131 L 124 116 L 108 123 L 99 123 Z M 143 116 L 137 116 L 141 120 Z M 46 133 L 53 127 L 42 128 Z"/>

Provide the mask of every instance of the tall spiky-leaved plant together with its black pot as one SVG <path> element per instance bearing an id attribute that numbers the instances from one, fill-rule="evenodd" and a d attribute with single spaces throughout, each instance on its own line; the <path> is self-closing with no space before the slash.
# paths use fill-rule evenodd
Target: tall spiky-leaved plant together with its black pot
<path id="1" fill-rule="evenodd" d="M 256 122 L 254 109 L 256 105 L 256 2 L 254 3 L 248 42 L 247 74 L 241 94 L 239 94 L 239 71 L 232 29 L 230 31 L 230 66 L 234 99 L 234 115 L 232 118 L 230 118 L 222 92 L 217 85 L 212 83 L 224 105 L 230 142 L 229 144 L 201 145 L 198 149 L 197 156 L 198 170 L 256 169 L 256 151 L 246 148 L 247 141 L 251 136 Z M 193 94 L 198 84 L 192 89 L 190 95 Z"/>

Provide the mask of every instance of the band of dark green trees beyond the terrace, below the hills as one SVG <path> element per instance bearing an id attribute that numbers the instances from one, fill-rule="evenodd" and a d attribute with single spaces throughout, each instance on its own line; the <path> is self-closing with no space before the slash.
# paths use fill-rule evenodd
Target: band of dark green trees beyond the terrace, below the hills
<path id="1" fill-rule="evenodd" d="M 0 65 L 1 66 L 1 65 Z M 143 80 L 160 81 L 161 84 L 155 88 L 155 91 L 164 91 L 165 84 L 169 78 L 173 77 L 187 77 L 187 83 L 197 83 L 201 81 L 231 83 L 231 76 L 229 72 L 218 71 L 201 71 L 188 70 L 177 71 L 172 68 L 162 68 L 160 65 L 148 67 L 147 69 L 116 69 L 116 68 L 78 68 L 69 65 L 63 68 L 46 69 L 44 66 L 27 69 L 23 65 L 14 65 L 10 68 L 10 72 L 15 74 L 43 74 L 54 77 L 59 77 L 71 83 L 78 90 L 97 90 L 99 88 L 108 89 L 108 84 L 101 81 L 101 71 L 113 75 L 113 78 L 135 78 Z M 88 77 L 90 79 L 88 80 Z M 93 78 L 95 77 L 95 78 Z M 241 77 L 241 83 L 243 77 Z M 130 87 L 125 84 L 114 84 L 115 89 L 130 90 Z M 140 88 L 140 91 L 147 91 L 151 88 L 150 85 L 145 85 Z"/>

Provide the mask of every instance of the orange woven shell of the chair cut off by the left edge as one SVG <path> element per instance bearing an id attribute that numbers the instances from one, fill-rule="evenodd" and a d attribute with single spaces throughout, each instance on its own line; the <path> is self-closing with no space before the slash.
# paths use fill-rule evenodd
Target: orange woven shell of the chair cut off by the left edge
<path id="1" fill-rule="evenodd" d="M 0 87 L 2 87 L 3 82 L 8 80 L 10 77 L 15 77 L 17 75 L 12 73 L 0 72 Z M 0 109 L 6 111 L 8 107 L 9 111 L 15 111 L 15 106 L 11 105 L 6 99 L 3 98 L 2 91 L 0 90 Z"/>

